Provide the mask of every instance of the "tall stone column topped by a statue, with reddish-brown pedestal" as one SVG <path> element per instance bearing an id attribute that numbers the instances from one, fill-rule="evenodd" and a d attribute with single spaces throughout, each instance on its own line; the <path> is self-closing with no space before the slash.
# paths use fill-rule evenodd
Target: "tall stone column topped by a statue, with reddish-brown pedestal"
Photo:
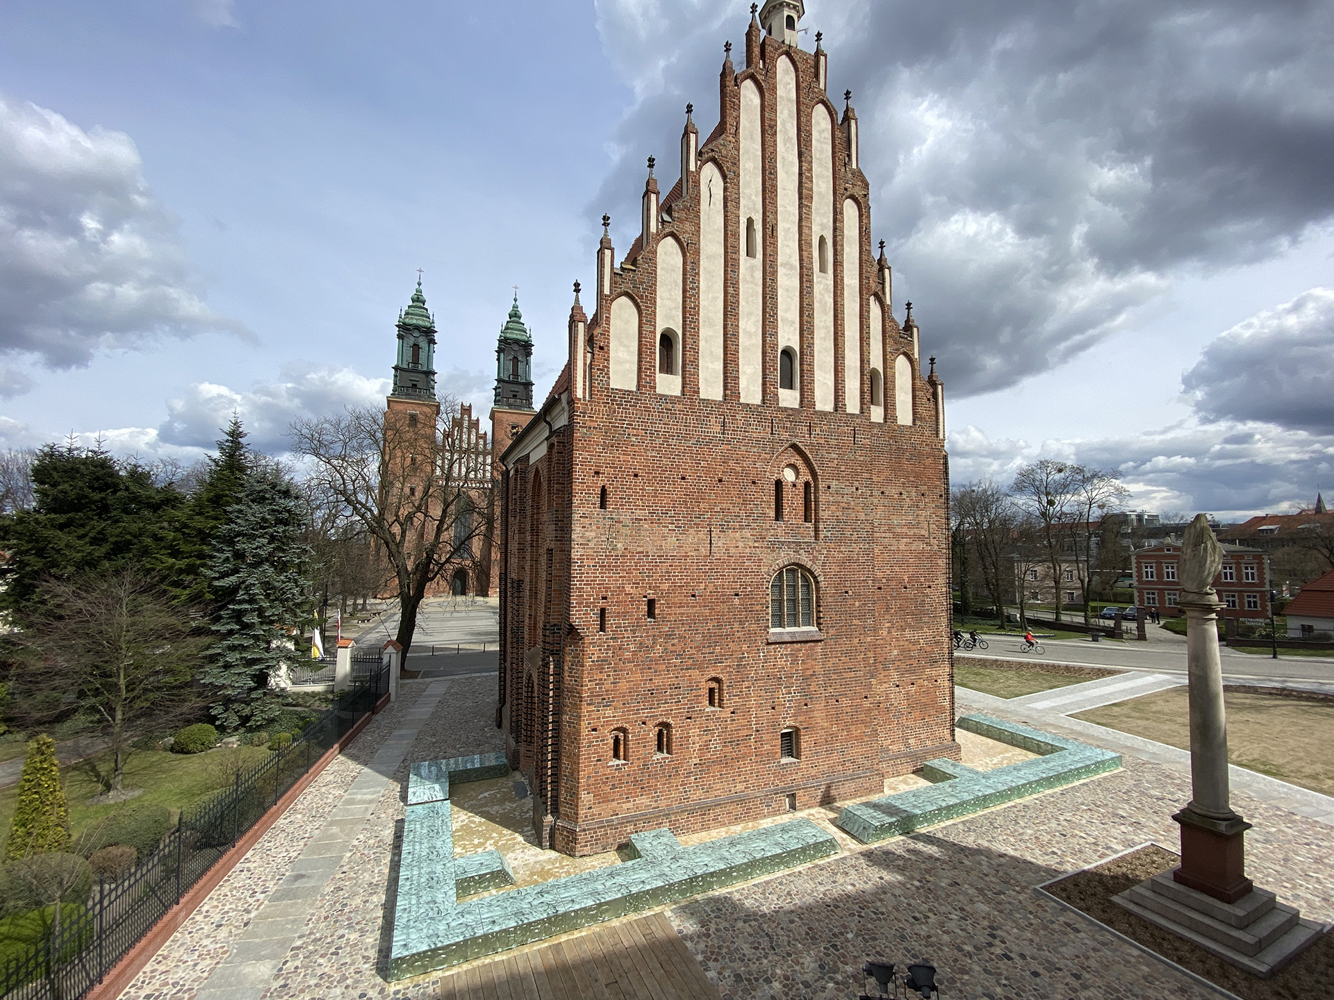
<path id="1" fill-rule="evenodd" d="M 1181 824 L 1181 868 L 1173 877 L 1225 903 L 1251 891 L 1245 873 L 1243 836 L 1250 824 L 1233 812 L 1227 788 L 1227 713 L 1218 655 L 1218 611 L 1213 581 L 1222 548 L 1203 515 L 1182 544 L 1181 607 L 1186 612 L 1190 693 L 1191 800 L 1173 816 Z"/>

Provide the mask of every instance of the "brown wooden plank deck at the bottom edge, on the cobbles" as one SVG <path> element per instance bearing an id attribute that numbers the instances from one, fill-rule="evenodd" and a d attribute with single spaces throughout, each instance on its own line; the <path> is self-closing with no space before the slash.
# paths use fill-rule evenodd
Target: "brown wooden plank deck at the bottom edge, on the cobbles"
<path id="1" fill-rule="evenodd" d="M 446 975 L 442 1000 L 718 1000 L 664 913 L 498 955 Z"/>

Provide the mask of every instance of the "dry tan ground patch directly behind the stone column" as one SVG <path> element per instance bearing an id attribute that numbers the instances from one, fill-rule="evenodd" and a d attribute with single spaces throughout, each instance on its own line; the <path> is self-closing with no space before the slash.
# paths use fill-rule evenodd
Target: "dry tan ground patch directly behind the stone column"
<path id="1" fill-rule="evenodd" d="M 1190 749 L 1187 688 L 1118 701 L 1075 719 Z M 1227 757 L 1322 795 L 1334 795 L 1334 705 L 1319 701 L 1225 691 Z"/>

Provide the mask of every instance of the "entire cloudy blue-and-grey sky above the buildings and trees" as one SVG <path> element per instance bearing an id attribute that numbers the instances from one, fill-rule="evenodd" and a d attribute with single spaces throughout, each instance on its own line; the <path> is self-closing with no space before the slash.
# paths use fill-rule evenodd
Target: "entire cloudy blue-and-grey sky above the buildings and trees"
<path id="1" fill-rule="evenodd" d="M 540 389 L 596 220 L 716 121 L 748 3 L 8 0 L 0 444 L 201 453 L 387 389 L 423 268 L 484 412 L 511 285 Z M 1334 492 L 1334 5 L 810 0 L 955 481 L 1038 456 L 1147 509 Z M 671 179 L 666 181 L 668 185 Z"/>

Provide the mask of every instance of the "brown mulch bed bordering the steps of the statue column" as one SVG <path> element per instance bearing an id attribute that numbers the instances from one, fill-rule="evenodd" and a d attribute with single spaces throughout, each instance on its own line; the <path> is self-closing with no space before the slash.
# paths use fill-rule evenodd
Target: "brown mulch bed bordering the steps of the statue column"
<path id="1" fill-rule="evenodd" d="M 1094 920 L 1245 1000 L 1315 1000 L 1334 996 L 1334 936 L 1329 933 L 1298 955 L 1287 968 L 1269 979 L 1259 979 L 1111 901 L 1118 892 L 1171 871 L 1179 861 L 1181 857 L 1171 851 L 1154 845 L 1142 847 L 1087 871 L 1067 875 L 1045 888 Z"/>

